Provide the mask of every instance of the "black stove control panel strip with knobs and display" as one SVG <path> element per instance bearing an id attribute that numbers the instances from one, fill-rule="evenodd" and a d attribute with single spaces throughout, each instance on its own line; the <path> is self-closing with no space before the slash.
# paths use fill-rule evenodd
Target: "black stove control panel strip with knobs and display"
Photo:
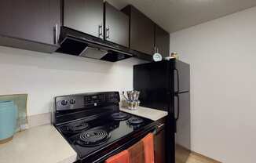
<path id="1" fill-rule="evenodd" d="M 75 110 L 104 107 L 119 103 L 119 92 L 95 92 L 55 98 L 56 110 Z"/>

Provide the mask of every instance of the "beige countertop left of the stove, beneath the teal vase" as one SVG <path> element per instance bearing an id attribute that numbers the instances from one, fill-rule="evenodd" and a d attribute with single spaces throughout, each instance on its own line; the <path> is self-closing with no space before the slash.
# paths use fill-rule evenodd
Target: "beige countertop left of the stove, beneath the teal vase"
<path id="1" fill-rule="evenodd" d="M 71 163 L 75 150 L 53 125 L 40 125 L 17 132 L 0 145 L 0 163 Z"/>

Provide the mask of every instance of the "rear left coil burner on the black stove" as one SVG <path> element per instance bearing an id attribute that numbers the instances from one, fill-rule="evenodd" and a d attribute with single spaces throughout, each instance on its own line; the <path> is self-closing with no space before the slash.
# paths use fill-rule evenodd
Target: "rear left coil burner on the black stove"
<path id="1" fill-rule="evenodd" d="M 85 129 L 89 129 L 89 125 L 86 121 L 75 121 L 60 127 L 61 132 L 64 133 L 77 133 Z"/>

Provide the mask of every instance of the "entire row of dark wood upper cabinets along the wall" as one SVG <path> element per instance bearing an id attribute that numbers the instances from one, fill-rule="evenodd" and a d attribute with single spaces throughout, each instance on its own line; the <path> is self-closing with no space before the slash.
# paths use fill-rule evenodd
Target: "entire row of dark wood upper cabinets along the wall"
<path id="1" fill-rule="evenodd" d="M 120 11 L 103 0 L 1 0 L 0 21 L 0 45 L 20 49 L 55 52 L 64 26 L 145 60 L 152 60 L 154 47 L 169 54 L 169 34 L 132 5 Z"/>

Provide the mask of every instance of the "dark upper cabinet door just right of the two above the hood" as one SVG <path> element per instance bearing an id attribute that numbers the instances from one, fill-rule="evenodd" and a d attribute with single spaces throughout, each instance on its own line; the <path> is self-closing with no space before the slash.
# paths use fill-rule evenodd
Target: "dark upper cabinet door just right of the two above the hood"
<path id="1" fill-rule="evenodd" d="M 122 9 L 130 16 L 130 49 L 152 55 L 154 53 L 154 22 L 132 5 Z"/>

